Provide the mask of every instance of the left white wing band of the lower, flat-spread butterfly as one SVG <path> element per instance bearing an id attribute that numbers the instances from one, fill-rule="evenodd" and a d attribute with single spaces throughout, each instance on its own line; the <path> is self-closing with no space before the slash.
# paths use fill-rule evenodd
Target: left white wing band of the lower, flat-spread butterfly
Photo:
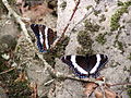
<path id="1" fill-rule="evenodd" d="M 71 56 L 71 61 L 74 68 L 82 74 L 88 74 L 85 70 L 83 70 L 80 65 L 76 64 L 75 58 L 76 58 L 75 56 Z"/>

